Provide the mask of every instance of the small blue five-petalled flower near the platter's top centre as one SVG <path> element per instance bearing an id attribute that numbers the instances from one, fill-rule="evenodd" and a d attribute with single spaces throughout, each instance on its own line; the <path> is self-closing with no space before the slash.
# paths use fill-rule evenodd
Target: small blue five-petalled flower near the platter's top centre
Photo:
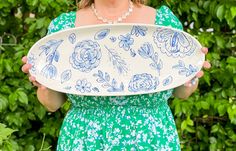
<path id="1" fill-rule="evenodd" d="M 123 48 L 126 51 L 128 51 L 130 49 L 130 46 L 134 43 L 134 39 L 131 37 L 130 34 L 126 34 L 125 36 L 120 35 L 118 39 L 120 40 L 120 48 Z"/>

